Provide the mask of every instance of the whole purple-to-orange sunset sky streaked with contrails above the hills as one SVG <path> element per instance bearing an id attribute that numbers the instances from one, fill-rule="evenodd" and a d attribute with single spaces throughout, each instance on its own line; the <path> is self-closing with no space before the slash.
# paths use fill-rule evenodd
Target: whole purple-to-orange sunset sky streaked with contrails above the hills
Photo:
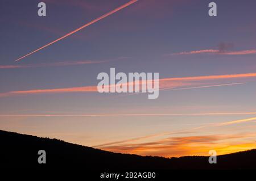
<path id="1" fill-rule="evenodd" d="M 39 2 L 0 2 L 0 129 L 163 157 L 256 148 L 255 1 Z M 158 99 L 99 93 L 110 68 L 159 73 Z"/>

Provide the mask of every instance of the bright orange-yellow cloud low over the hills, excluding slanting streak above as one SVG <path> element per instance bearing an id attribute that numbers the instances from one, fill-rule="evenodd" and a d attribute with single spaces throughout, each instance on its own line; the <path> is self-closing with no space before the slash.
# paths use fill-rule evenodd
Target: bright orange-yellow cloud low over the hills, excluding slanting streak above
<path id="1" fill-rule="evenodd" d="M 251 141 L 242 142 L 244 138 Z M 255 148 L 255 134 L 218 134 L 187 137 L 168 137 L 158 141 L 137 144 L 104 146 L 101 149 L 118 153 L 180 157 L 184 155 L 208 155 L 209 150 L 217 154 L 233 153 Z"/>

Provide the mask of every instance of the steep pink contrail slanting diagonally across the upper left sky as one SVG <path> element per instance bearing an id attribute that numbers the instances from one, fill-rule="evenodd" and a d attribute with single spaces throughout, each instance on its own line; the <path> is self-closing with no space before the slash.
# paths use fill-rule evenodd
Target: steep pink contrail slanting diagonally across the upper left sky
<path id="1" fill-rule="evenodd" d="M 40 47 L 40 48 L 34 50 L 33 52 L 28 53 L 28 54 L 26 54 L 26 55 L 24 55 L 24 56 L 18 58 L 17 60 L 15 60 L 15 62 L 21 60 L 22 58 L 25 58 L 25 57 L 27 57 L 27 56 L 30 56 L 31 54 L 33 54 L 33 53 L 35 53 L 35 52 L 38 52 L 39 50 L 41 50 L 41 49 L 43 49 L 43 48 L 46 48 L 46 47 L 48 47 L 49 45 L 51 45 L 51 44 L 53 44 L 53 43 L 56 43 L 57 41 L 60 41 L 60 40 L 64 39 L 65 37 L 68 37 L 68 36 L 72 35 L 73 33 L 76 33 L 77 31 L 80 31 L 80 30 L 82 30 L 83 28 L 88 27 L 88 26 L 90 26 L 91 24 L 98 22 L 99 20 L 104 19 L 104 18 L 108 17 L 109 15 L 112 15 L 112 14 L 114 14 L 115 12 L 124 9 L 124 8 L 127 7 L 127 6 L 130 6 L 131 4 L 133 4 L 133 3 L 137 2 L 137 1 L 139 1 L 139 0 L 132 0 L 132 1 L 128 2 L 128 3 L 126 3 L 125 5 L 122 5 L 122 6 L 118 7 L 117 9 L 114 9 L 114 10 L 112 10 L 112 11 L 110 11 L 110 12 L 108 12 L 108 13 L 102 15 L 102 16 L 100 16 L 99 18 L 96 18 L 96 19 L 92 20 L 92 21 L 89 22 L 89 23 L 86 23 L 84 26 L 81 26 L 80 28 L 77 28 L 76 30 L 67 33 L 66 35 L 60 37 L 59 39 L 56 39 L 56 40 L 52 41 L 51 43 L 48 43 L 48 44 L 44 45 L 43 47 Z"/>

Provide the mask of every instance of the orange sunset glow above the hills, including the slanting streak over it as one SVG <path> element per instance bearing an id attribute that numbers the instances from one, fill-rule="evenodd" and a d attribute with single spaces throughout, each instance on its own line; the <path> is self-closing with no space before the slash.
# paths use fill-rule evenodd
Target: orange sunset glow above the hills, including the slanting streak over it
<path id="1" fill-rule="evenodd" d="M 130 140 L 109 142 L 94 146 L 107 151 L 117 153 L 130 153 L 139 155 L 158 155 L 163 157 L 182 157 L 187 155 L 208 155 L 209 150 L 216 150 L 218 155 L 235 153 L 256 149 L 255 133 L 229 133 L 229 134 L 210 134 L 203 136 L 175 136 L 177 133 L 186 131 L 197 131 L 200 134 L 204 128 L 229 126 L 232 124 L 245 123 L 256 120 L 256 117 L 228 121 L 218 124 L 209 124 L 197 128 L 184 129 L 180 132 L 169 132 L 152 134 L 144 137 L 133 138 Z M 166 137 L 167 136 L 167 137 Z M 158 137 L 152 141 L 153 137 Z M 147 141 L 146 141 L 147 140 Z M 244 141 L 246 140 L 246 141 Z"/>

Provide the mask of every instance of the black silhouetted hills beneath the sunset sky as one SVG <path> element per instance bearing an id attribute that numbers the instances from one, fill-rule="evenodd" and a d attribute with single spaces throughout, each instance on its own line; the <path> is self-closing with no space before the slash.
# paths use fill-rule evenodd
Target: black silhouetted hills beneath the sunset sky
<path id="1" fill-rule="evenodd" d="M 256 169 L 256 149 L 220 155 L 217 164 L 209 164 L 208 157 L 142 157 L 6 131 L 0 131 L 0 140 L 0 167 L 90 170 Z M 38 163 L 38 150 L 46 150 L 46 164 Z"/>

